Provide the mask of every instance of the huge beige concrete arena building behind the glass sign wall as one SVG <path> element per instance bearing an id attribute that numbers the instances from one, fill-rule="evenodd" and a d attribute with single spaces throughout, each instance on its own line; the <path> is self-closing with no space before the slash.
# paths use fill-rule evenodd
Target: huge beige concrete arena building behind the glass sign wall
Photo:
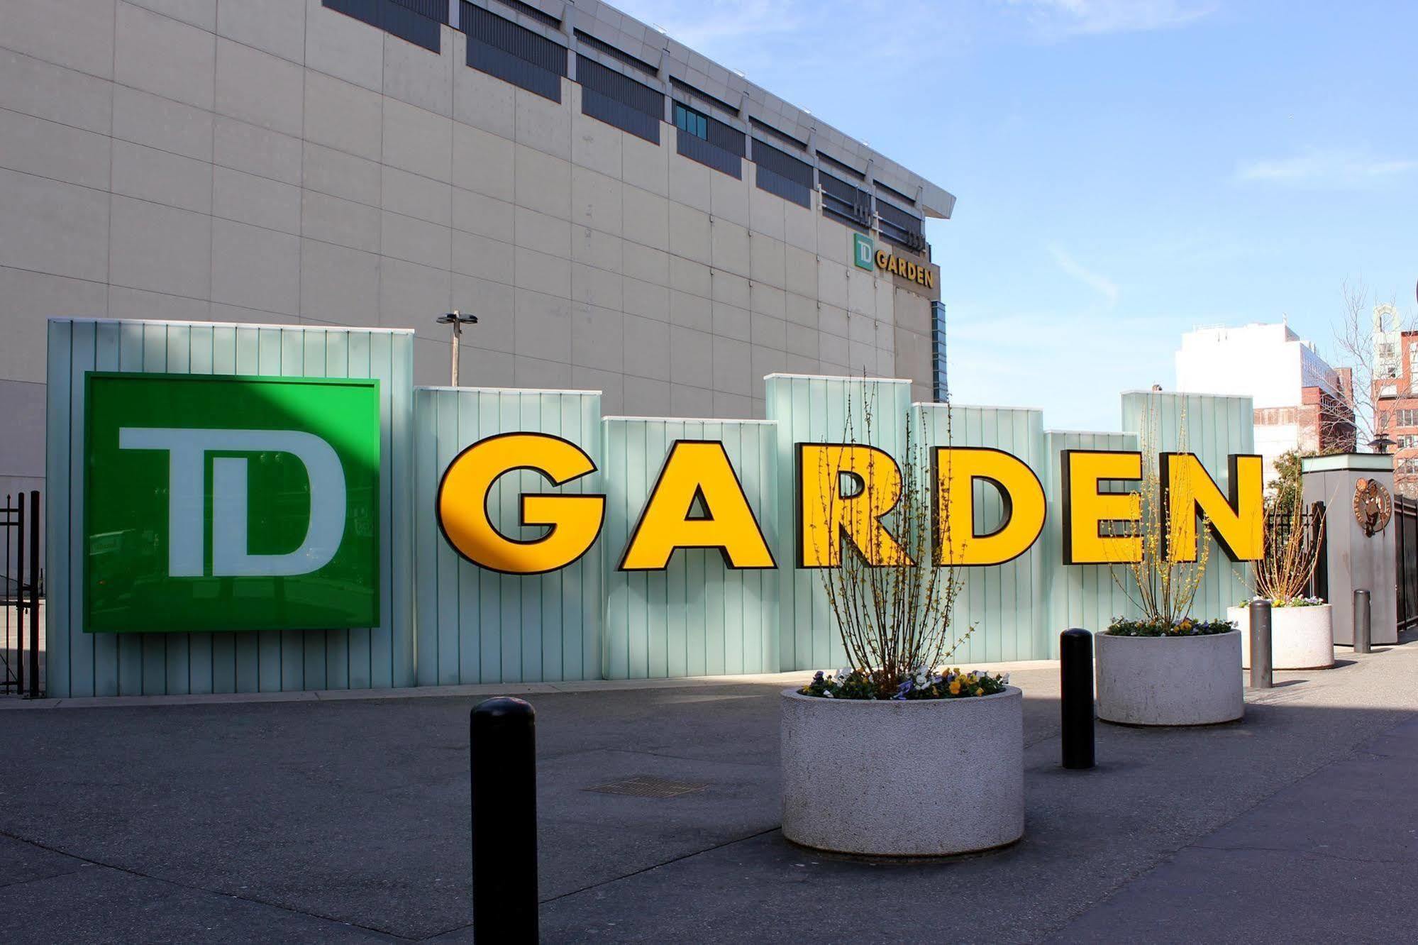
<path id="1" fill-rule="evenodd" d="M 413 328 L 438 385 L 457 308 L 462 383 L 607 413 L 943 390 L 954 197 L 596 0 L 7 0 L 0 145 L 0 492 L 51 315 Z"/>

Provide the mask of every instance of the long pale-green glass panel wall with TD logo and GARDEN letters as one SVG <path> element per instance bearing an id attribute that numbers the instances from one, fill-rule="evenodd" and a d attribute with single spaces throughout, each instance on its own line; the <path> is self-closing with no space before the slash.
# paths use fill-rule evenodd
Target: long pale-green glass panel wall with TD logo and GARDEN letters
<path id="1" fill-rule="evenodd" d="M 596 392 L 414 389 L 411 341 L 51 322 L 51 691 L 820 668 L 847 555 L 961 568 L 957 661 L 1046 658 L 1129 610 L 1109 566 L 1141 553 L 1153 468 L 1163 553 L 1261 556 L 1245 399 L 1124 394 L 1122 431 L 1083 434 L 771 375 L 766 420 L 604 417 Z M 912 484 L 926 562 L 895 514 Z M 1236 570 L 1197 606 L 1244 596 Z"/>

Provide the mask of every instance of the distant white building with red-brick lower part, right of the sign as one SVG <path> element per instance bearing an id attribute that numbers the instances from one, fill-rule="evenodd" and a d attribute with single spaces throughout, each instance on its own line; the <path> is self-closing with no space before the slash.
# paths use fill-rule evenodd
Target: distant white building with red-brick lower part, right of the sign
<path id="1" fill-rule="evenodd" d="M 1288 450 L 1354 448 L 1350 385 L 1350 369 L 1330 368 L 1283 322 L 1200 328 L 1183 335 L 1177 350 L 1177 390 L 1252 399 L 1266 480 Z"/>

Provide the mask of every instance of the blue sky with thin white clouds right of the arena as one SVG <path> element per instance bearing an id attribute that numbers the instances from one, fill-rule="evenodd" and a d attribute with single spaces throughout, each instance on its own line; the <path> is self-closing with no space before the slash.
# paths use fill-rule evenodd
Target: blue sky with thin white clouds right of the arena
<path id="1" fill-rule="evenodd" d="M 1415 315 L 1418 3 L 617 0 L 959 199 L 960 403 L 1116 429 L 1197 325 Z"/>

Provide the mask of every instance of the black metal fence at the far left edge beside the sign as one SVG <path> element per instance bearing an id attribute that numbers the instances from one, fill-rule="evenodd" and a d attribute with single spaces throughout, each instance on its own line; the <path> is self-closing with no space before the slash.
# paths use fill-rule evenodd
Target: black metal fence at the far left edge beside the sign
<path id="1" fill-rule="evenodd" d="M 40 494 L 6 495 L 0 505 L 0 692 L 43 691 L 40 668 Z M 28 646 L 27 646 L 28 644 Z"/>

